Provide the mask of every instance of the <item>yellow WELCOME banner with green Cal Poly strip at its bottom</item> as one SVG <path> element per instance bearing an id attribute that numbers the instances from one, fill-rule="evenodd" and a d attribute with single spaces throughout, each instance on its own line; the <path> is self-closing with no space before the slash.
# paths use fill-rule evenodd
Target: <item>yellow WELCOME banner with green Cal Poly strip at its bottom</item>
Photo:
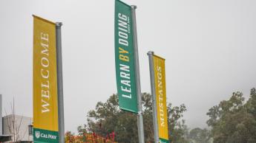
<path id="1" fill-rule="evenodd" d="M 56 24 L 33 15 L 33 139 L 59 142 Z"/>

